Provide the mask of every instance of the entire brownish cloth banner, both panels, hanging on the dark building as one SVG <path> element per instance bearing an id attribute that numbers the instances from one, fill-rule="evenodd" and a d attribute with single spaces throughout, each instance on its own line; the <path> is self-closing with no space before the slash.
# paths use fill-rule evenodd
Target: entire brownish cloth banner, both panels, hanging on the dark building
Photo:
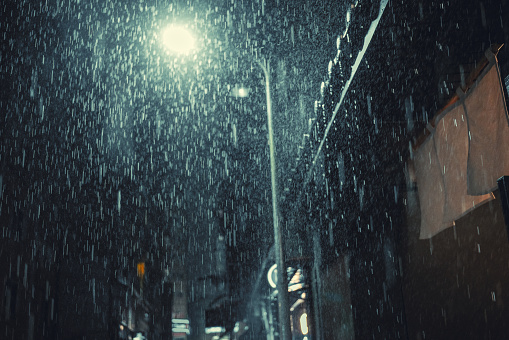
<path id="1" fill-rule="evenodd" d="M 492 60 L 471 90 L 435 119 L 435 129 L 415 152 L 420 239 L 491 200 L 497 179 L 509 173 L 509 120 L 501 86 Z"/>

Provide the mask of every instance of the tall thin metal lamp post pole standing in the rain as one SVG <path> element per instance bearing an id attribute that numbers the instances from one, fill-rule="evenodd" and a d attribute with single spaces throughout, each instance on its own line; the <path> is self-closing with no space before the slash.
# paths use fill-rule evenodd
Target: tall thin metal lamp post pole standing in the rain
<path id="1" fill-rule="evenodd" d="M 279 224 L 279 208 L 277 193 L 276 155 L 274 147 L 274 132 L 272 129 L 272 100 L 270 97 L 270 65 L 259 60 L 256 63 L 263 70 L 265 77 L 265 94 L 267 97 L 267 126 L 269 129 L 269 155 L 270 155 L 270 179 L 272 189 L 272 222 L 274 227 L 274 253 L 277 264 L 277 298 L 279 314 L 279 334 L 281 340 L 291 339 L 290 317 L 288 313 L 288 284 L 286 278 L 286 265 L 284 259 L 284 245 L 281 226 Z"/>

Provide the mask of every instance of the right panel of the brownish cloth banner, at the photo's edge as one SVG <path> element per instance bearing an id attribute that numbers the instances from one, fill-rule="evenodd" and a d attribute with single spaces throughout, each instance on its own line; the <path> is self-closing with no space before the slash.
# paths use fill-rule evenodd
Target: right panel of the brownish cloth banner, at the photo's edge
<path id="1" fill-rule="evenodd" d="M 467 93 L 464 107 L 469 131 L 468 193 L 486 194 L 497 188 L 500 177 L 509 175 L 509 117 L 493 55 Z"/>

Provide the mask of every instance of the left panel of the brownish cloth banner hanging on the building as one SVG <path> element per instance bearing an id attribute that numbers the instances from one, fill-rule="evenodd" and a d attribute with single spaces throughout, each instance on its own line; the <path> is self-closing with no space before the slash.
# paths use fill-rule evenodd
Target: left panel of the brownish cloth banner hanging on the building
<path id="1" fill-rule="evenodd" d="M 467 193 L 468 127 L 463 105 L 439 118 L 436 129 L 415 153 L 421 207 L 420 239 L 451 227 L 454 221 L 492 199 Z"/>

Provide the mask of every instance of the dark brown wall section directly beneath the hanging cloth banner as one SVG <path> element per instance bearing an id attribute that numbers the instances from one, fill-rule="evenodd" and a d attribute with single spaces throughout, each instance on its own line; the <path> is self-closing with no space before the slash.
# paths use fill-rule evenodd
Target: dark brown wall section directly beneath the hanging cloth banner
<path id="1" fill-rule="evenodd" d="M 417 237 L 409 236 L 403 258 L 410 339 L 505 338 L 509 244 L 500 201 L 432 239 Z"/>

